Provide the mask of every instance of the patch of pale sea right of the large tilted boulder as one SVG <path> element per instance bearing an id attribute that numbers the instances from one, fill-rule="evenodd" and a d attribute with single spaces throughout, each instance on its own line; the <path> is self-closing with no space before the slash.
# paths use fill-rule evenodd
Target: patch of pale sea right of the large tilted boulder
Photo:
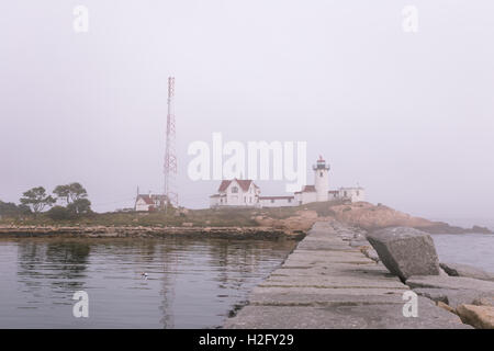
<path id="1" fill-rule="evenodd" d="M 439 261 L 470 264 L 494 273 L 494 235 L 433 235 Z"/>

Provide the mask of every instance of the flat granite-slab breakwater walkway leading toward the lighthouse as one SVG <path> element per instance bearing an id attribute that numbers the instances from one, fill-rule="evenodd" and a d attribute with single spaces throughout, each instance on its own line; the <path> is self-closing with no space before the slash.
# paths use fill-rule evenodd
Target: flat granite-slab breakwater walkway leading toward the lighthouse
<path id="1" fill-rule="evenodd" d="M 224 327 L 472 328 L 424 296 L 416 297 L 417 316 L 406 316 L 404 293 L 411 287 L 372 253 L 364 254 L 364 242 L 363 231 L 337 222 L 316 223 Z"/>

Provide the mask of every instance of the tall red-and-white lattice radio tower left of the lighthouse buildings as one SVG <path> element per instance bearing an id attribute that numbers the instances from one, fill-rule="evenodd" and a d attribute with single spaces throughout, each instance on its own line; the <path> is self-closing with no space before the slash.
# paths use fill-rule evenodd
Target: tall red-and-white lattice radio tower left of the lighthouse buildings
<path id="1" fill-rule="evenodd" d="M 178 207 L 178 192 L 176 189 L 177 155 L 175 151 L 175 77 L 168 77 L 168 115 L 167 115 L 167 143 L 165 150 L 165 210 L 168 204 Z"/>

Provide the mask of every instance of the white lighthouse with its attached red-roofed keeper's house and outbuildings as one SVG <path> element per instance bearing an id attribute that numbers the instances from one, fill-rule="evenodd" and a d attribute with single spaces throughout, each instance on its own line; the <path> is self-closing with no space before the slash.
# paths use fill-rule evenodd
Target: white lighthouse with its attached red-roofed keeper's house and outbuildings
<path id="1" fill-rule="evenodd" d="M 361 186 L 329 190 L 329 166 L 322 157 L 313 170 L 314 185 L 305 185 L 294 195 L 287 196 L 260 196 L 260 189 L 252 180 L 223 180 L 217 193 L 210 196 L 210 206 L 281 207 L 335 200 L 364 201 L 364 189 Z"/>

